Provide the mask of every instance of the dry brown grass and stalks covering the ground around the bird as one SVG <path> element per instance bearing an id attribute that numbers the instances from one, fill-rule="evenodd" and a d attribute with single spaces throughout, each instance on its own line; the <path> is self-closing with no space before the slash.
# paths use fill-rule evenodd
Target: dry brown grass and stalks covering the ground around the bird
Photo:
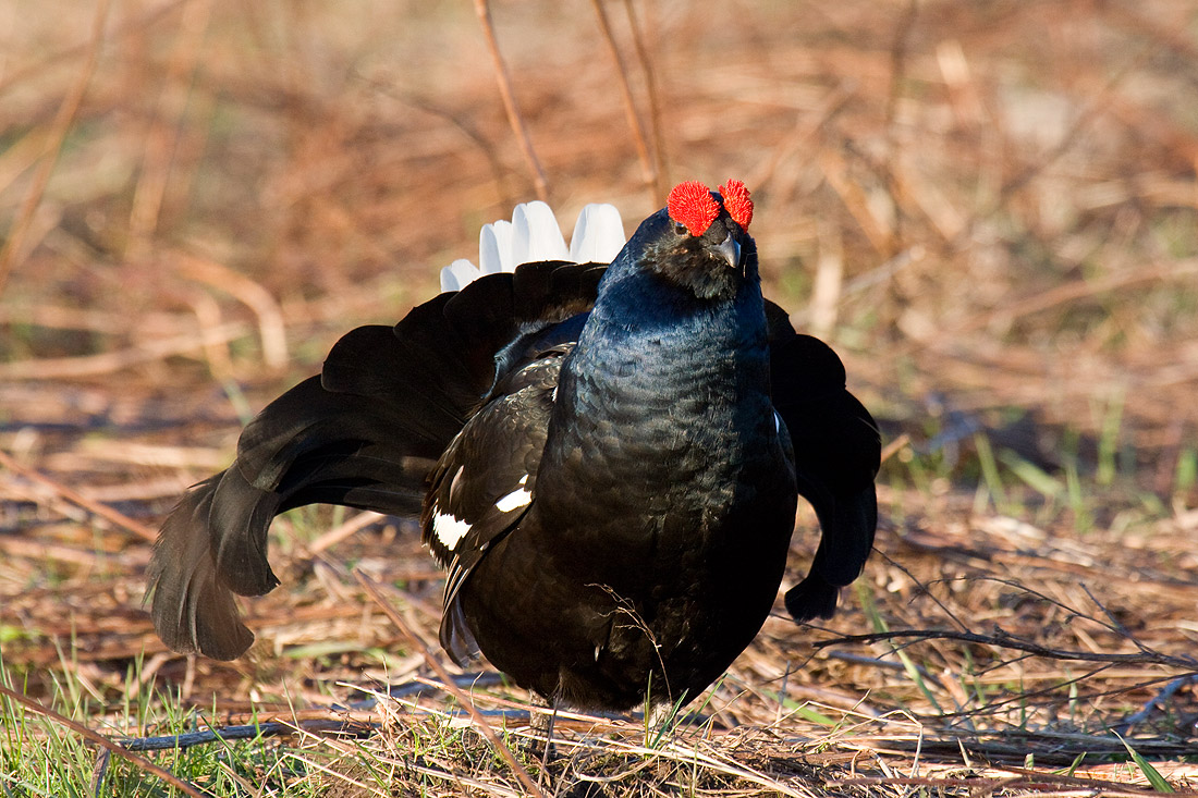
<path id="1" fill-rule="evenodd" d="M 707 721 L 563 720 L 521 767 L 546 794 L 1142 792 L 1119 732 L 1194 788 L 1198 4 L 500 4 L 527 149 L 466 2 L 77 6 L 0 7 L 6 684 L 109 737 L 302 721 L 254 794 L 528 792 L 441 690 L 328 708 L 430 677 L 352 575 L 435 641 L 410 527 L 277 522 L 285 586 L 232 664 L 153 636 L 147 531 L 513 202 L 633 224 L 740 176 L 769 295 L 896 443 L 877 556 L 828 628 L 770 619 Z M 525 756 L 514 691 L 474 694 Z"/>

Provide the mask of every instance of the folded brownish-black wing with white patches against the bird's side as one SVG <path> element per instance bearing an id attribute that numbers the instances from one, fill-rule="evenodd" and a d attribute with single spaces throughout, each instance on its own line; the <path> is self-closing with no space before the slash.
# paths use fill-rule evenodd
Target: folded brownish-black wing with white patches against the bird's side
<path id="1" fill-rule="evenodd" d="M 459 664 L 477 653 L 458 592 L 491 545 L 516 527 L 536 501 L 562 357 L 555 346 L 512 374 L 474 415 L 429 477 L 422 539 L 448 568 L 441 645 Z"/>

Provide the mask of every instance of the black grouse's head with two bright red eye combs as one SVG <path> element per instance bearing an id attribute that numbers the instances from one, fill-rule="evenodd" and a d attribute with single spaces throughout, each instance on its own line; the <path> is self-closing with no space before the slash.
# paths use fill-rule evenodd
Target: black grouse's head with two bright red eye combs
<path id="1" fill-rule="evenodd" d="M 629 248 L 641 253 L 640 268 L 696 297 L 731 300 L 746 280 L 757 280 L 751 220 L 752 199 L 739 180 L 719 192 L 688 181 L 673 187 L 666 207 L 641 224 Z"/>

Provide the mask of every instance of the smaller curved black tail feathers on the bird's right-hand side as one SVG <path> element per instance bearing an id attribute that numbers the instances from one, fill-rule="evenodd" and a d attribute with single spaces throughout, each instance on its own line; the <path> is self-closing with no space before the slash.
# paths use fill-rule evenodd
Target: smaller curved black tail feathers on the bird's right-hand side
<path id="1" fill-rule="evenodd" d="M 767 316 L 774 407 L 794 447 L 799 494 L 822 531 L 811 569 L 787 592 L 786 609 L 795 621 L 830 618 L 840 588 L 860 575 L 873 548 L 882 441 L 873 417 L 846 389 L 836 353 L 795 333 L 770 302 Z"/>

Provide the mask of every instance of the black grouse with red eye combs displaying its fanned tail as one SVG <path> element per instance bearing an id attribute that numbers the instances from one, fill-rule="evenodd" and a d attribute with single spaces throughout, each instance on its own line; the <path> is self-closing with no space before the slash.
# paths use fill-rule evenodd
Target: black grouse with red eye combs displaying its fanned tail
<path id="1" fill-rule="evenodd" d="M 479 268 L 345 334 L 181 498 L 147 573 L 158 635 L 241 655 L 235 594 L 278 585 L 271 520 L 315 502 L 417 518 L 446 653 L 555 707 L 700 695 L 769 616 L 799 496 L 821 540 L 785 606 L 831 617 L 873 545 L 881 439 L 762 296 L 752 213 L 742 181 L 686 181 L 627 242 L 610 205 L 570 250 L 544 202 L 484 226 Z"/>

